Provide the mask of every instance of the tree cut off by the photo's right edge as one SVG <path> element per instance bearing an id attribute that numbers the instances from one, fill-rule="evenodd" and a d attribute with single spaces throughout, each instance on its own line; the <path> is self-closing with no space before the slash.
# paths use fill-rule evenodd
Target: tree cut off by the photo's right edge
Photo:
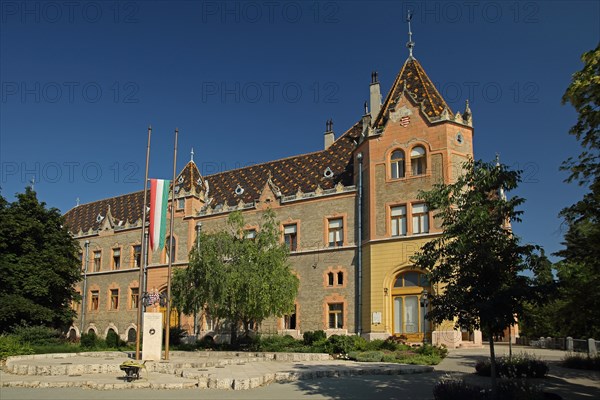
<path id="1" fill-rule="evenodd" d="M 566 233 L 565 248 L 557 255 L 558 277 L 563 307 L 569 313 L 571 336 L 600 335 L 600 45 L 582 56 L 584 67 L 573 74 L 563 96 L 578 113 L 577 123 L 569 133 L 581 143 L 583 151 L 569 158 L 561 169 L 569 172 L 567 182 L 587 186 L 583 199 L 563 209 Z M 557 325 L 560 321 L 556 321 Z M 564 325 L 561 325 L 564 326 Z"/>

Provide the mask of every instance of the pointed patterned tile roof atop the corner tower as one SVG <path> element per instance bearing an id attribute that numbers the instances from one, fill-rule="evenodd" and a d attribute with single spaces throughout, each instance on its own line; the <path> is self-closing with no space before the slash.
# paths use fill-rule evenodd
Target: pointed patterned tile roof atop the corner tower
<path id="1" fill-rule="evenodd" d="M 374 126 L 383 124 L 387 111 L 398 97 L 400 97 L 405 88 L 417 103 L 422 104 L 423 111 L 428 117 L 439 117 L 444 108 L 447 108 L 448 114 L 452 115 L 450 107 L 446 104 L 446 101 L 440 95 L 433 82 L 431 82 L 421 64 L 416 59 L 409 57 L 402 66 L 398 76 L 396 76 L 392 89 L 388 93 L 381 111 L 375 119 Z"/>

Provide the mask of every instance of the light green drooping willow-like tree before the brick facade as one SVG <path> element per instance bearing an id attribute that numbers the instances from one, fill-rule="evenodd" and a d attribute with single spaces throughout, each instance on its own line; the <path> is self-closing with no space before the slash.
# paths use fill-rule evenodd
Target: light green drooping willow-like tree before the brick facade
<path id="1" fill-rule="evenodd" d="M 173 300 L 186 314 L 202 308 L 231 323 L 231 341 L 243 327 L 294 308 L 299 281 L 290 269 L 288 249 L 279 242 L 275 214 L 264 213 L 254 239 L 247 239 L 240 212 L 228 218 L 228 230 L 202 235 L 200 251 L 190 252 L 189 266 L 176 270 Z"/>

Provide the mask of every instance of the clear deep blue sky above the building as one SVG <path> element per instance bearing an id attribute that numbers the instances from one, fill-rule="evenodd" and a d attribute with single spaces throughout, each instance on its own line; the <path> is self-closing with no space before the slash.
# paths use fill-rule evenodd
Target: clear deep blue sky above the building
<path id="1" fill-rule="evenodd" d="M 35 177 L 48 205 L 142 189 L 195 151 L 203 174 L 319 150 L 415 57 L 454 111 L 471 101 L 475 157 L 524 170 L 526 242 L 560 248 L 583 191 L 559 166 L 580 151 L 561 96 L 600 39 L 598 1 L 0 2 L 0 185 Z"/>

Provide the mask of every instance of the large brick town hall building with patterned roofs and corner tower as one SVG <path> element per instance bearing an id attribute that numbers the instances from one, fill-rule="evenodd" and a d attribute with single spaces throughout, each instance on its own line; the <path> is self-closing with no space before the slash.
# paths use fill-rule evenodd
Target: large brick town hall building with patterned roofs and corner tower
<path id="1" fill-rule="evenodd" d="M 67 225 L 81 246 L 77 291 L 84 298 L 74 305 L 79 316 L 71 335 L 94 331 L 104 337 L 113 330 L 134 339 L 138 299 L 166 291 L 170 257 L 173 268 L 185 268 L 198 234 L 222 229 L 235 210 L 243 213 L 251 238 L 269 208 L 300 286 L 295 312 L 264 321 L 260 332 L 404 335 L 451 347 L 480 342 L 478 332 L 426 319 L 423 300 L 439 288 L 411 262 L 441 227 L 419 191 L 455 181 L 473 156 L 469 104 L 464 112 L 452 111 L 412 47 L 385 99 L 376 73 L 369 90 L 365 114 L 353 126 L 335 137 L 327 123 L 321 150 L 208 176 L 193 160 L 185 165 L 169 212 L 175 219 L 173 247 L 148 254 L 145 288 L 139 284 L 144 192 L 69 210 Z M 206 313 L 194 320 L 174 312 L 170 323 L 198 337 L 227 340 L 223 321 Z"/>

